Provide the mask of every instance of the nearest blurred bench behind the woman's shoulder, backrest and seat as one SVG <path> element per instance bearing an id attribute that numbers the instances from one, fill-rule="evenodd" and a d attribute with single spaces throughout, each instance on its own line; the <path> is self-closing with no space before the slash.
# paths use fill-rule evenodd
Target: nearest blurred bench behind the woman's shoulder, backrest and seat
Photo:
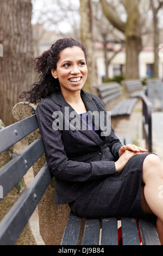
<path id="1" fill-rule="evenodd" d="M 111 125 L 115 129 L 117 120 L 128 119 L 137 102 L 136 98 L 124 99 L 119 83 L 110 82 L 97 87 L 99 97 L 107 111 L 111 111 Z"/>

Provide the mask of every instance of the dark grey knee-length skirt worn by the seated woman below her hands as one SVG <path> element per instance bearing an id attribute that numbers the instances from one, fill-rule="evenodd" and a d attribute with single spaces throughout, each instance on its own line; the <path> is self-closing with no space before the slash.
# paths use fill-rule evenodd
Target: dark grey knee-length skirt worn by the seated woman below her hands
<path id="1" fill-rule="evenodd" d="M 150 153 L 131 157 L 122 172 L 95 181 L 85 193 L 70 203 L 74 214 L 87 217 L 147 217 L 141 205 L 142 165 Z"/>

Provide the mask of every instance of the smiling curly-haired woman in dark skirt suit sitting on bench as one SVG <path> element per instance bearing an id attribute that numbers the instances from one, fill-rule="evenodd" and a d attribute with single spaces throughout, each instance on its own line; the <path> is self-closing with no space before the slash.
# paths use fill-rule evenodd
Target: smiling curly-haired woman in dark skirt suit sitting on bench
<path id="1" fill-rule="evenodd" d="M 82 90 L 84 45 L 60 39 L 34 65 L 39 82 L 20 97 L 40 102 L 36 117 L 55 176 L 54 203 L 90 218 L 154 215 L 163 244 L 163 163 L 136 145 L 122 145 L 99 97 Z"/>

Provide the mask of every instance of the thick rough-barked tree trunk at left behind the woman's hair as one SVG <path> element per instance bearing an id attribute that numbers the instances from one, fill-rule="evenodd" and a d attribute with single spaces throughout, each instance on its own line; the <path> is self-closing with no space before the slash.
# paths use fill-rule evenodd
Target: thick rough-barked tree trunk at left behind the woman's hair
<path id="1" fill-rule="evenodd" d="M 12 108 L 19 94 L 32 83 L 32 3 L 30 0 L 0 0 L 0 116 L 6 125 L 15 122 Z"/>

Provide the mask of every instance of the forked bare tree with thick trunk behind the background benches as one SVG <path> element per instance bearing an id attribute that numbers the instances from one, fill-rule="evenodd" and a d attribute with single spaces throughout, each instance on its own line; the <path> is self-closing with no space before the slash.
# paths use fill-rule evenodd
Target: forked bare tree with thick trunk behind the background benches
<path id="1" fill-rule="evenodd" d="M 139 53 L 142 49 L 142 22 L 139 11 L 139 0 L 122 0 L 126 10 L 127 21 L 121 19 L 114 5 L 100 0 L 103 12 L 110 23 L 126 37 L 126 79 L 139 78 Z"/>

